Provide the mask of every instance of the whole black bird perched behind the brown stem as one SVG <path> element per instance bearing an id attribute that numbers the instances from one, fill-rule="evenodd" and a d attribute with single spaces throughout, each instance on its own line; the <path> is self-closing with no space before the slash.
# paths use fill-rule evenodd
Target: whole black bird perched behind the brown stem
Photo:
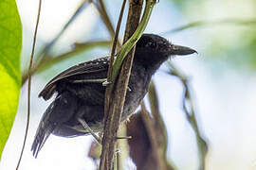
<path id="1" fill-rule="evenodd" d="M 160 65 L 174 55 L 189 55 L 195 50 L 174 45 L 166 39 L 143 34 L 137 42 L 135 58 L 129 80 L 121 121 L 126 120 L 138 107 L 148 91 L 151 77 Z M 104 93 L 109 58 L 80 63 L 51 79 L 39 97 L 49 99 L 57 93 L 41 119 L 31 147 L 36 158 L 48 136 L 62 137 L 88 134 L 82 120 L 94 132 L 102 131 Z"/>

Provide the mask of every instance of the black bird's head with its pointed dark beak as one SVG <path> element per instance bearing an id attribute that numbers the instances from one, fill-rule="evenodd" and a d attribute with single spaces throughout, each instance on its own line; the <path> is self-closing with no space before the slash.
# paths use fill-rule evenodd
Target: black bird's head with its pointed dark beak
<path id="1" fill-rule="evenodd" d="M 174 55 L 189 55 L 195 50 L 186 46 L 175 45 L 155 34 L 143 34 L 137 41 L 136 57 L 141 64 L 147 67 L 156 67 Z"/>

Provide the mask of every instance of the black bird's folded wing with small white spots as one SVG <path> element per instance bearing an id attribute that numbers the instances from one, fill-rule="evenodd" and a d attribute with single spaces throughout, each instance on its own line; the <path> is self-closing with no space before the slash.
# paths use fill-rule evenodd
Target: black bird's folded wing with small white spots
<path id="1" fill-rule="evenodd" d="M 105 57 L 82 62 L 70 67 L 58 76 L 52 78 L 38 96 L 43 96 L 46 100 L 49 99 L 52 94 L 56 92 L 56 83 L 62 80 L 72 83 L 102 83 L 106 79 L 108 65 L 108 57 Z"/>

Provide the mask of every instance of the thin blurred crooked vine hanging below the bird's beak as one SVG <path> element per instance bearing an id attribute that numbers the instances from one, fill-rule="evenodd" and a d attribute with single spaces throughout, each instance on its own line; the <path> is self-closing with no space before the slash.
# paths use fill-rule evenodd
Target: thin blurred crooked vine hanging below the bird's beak
<path id="1" fill-rule="evenodd" d="M 189 80 L 186 76 L 183 76 L 181 72 L 174 66 L 172 62 L 169 62 L 169 66 L 171 68 L 170 74 L 172 76 L 177 76 L 183 84 L 184 87 L 184 96 L 182 100 L 182 108 L 186 113 L 186 118 L 192 126 L 192 129 L 195 133 L 197 147 L 198 147 L 198 154 L 199 154 L 199 169 L 204 170 L 206 166 L 206 156 L 208 153 L 208 144 L 207 139 L 203 136 L 202 132 L 198 127 L 198 123 L 196 120 L 195 111 L 193 109 L 193 102 L 192 102 L 192 94 L 191 94 L 191 87 L 189 86 Z M 190 107 L 190 109 L 188 108 Z"/>

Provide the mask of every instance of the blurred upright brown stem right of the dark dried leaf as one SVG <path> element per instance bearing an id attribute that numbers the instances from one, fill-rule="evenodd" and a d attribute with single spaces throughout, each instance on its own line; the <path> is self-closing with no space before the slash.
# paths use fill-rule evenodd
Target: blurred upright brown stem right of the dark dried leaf
<path id="1" fill-rule="evenodd" d="M 148 136 L 148 140 L 144 141 L 144 144 L 150 142 L 151 146 L 150 148 L 148 148 L 150 149 L 150 153 L 145 155 L 144 158 L 147 161 L 143 162 L 142 167 L 143 169 L 149 170 L 173 170 L 174 165 L 167 161 L 166 158 L 168 144 L 167 131 L 159 111 L 158 97 L 155 91 L 155 85 L 153 81 L 150 84 L 148 94 L 152 111 L 152 117 L 150 116 L 149 111 L 146 110 L 144 102 L 141 103 L 140 114 L 144 127 L 146 128 L 146 130 L 143 133 L 147 133 Z M 136 124 L 134 126 L 136 126 Z M 139 163 L 139 161 L 136 162 Z"/>

